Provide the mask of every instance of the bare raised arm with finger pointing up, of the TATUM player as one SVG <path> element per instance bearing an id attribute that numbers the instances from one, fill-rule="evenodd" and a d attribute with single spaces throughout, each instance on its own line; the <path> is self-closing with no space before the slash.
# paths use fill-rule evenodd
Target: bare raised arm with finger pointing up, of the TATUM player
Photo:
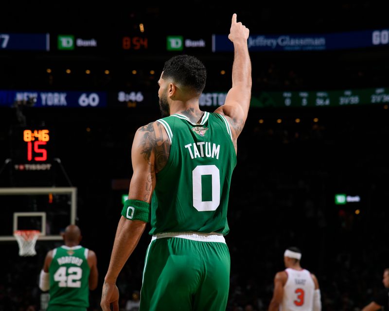
<path id="1" fill-rule="evenodd" d="M 249 30 L 232 16 L 229 39 L 234 45 L 232 65 L 232 87 L 227 93 L 224 105 L 215 112 L 223 114 L 230 122 L 233 138 L 236 140 L 245 125 L 251 99 L 251 61 L 248 54 Z"/>

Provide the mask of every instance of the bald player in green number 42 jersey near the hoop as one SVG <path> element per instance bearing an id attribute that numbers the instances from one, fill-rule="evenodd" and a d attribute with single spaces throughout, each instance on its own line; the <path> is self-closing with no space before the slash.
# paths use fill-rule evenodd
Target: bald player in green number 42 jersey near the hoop
<path id="1" fill-rule="evenodd" d="M 81 231 L 68 225 L 63 233 L 65 245 L 46 255 L 40 274 L 39 288 L 50 290 L 47 311 L 86 311 L 89 289 L 97 287 L 96 254 L 80 245 Z"/>

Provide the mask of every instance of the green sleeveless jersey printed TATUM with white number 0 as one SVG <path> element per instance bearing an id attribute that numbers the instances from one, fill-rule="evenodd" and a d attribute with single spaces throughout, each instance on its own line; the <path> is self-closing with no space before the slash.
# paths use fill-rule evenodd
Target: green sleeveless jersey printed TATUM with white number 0
<path id="1" fill-rule="evenodd" d="M 157 173 L 150 234 L 195 231 L 227 234 L 227 207 L 236 154 L 230 125 L 205 112 L 200 123 L 174 114 L 159 119 L 171 142 L 166 166 Z"/>

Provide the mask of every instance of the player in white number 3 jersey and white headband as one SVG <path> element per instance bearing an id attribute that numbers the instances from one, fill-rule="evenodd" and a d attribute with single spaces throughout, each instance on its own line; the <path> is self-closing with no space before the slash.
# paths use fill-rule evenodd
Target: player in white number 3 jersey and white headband
<path id="1" fill-rule="evenodd" d="M 268 311 L 320 311 L 320 289 L 316 276 L 301 268 L 301 251 L 289 247 L 283 254 L 285 270 L 274 277 L 273 298 Z"/>

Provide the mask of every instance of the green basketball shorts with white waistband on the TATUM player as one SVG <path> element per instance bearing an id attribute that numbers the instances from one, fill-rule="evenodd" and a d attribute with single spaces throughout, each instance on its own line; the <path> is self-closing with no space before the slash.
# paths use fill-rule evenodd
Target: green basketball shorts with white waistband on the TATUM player
<path id="1" fill-rule="evenodd" d="M 171 232 L 147 248 L 140 311 L 225 311 L 230 252 L 219 234 Z"/>

